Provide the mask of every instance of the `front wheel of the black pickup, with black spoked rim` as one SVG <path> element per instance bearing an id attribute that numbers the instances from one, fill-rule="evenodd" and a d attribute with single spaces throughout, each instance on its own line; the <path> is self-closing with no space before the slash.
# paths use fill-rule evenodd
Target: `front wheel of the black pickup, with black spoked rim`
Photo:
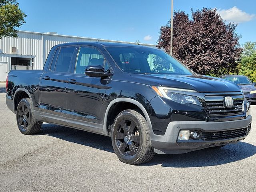
<path id="1" fill-rule="evenodd" d="M 148 123 L 134 110 L 124 110 L 118 114 L 111 138 L 116 155 L 124 163 L 141 164 L 154 157 Z"/>

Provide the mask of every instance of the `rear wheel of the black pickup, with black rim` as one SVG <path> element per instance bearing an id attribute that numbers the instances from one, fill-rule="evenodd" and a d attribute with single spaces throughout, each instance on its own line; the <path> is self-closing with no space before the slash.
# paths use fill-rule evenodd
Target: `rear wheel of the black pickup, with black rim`
<path id="1" fill-rule="evenodd" d="M 24 135 L 36 134 L 40 131 L 41 125 L 35 118 L 30 98 L 20 100 L 16 111 L 16 120 L 20 132 Z"/>

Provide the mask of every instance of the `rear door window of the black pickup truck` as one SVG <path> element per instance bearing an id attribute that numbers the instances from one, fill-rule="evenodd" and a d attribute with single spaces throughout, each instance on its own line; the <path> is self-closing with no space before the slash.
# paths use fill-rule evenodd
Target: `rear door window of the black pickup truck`
<path id="1" fill-rule="evenodd" d="M 54 71 L 68 72 L 74 50 L 75 50 L 74 46 L 60 48 Z"/>

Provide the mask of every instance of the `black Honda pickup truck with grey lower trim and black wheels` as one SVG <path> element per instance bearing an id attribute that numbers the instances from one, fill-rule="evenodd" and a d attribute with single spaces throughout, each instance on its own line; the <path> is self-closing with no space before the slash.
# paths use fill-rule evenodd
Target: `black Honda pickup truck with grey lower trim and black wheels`
<path id="1" fill-rule="evenodd" d="M 252 121 L 237 84 L 132 44 L 54 46 L 43 70 L 10 71 L 6 91 L 22 134 L 36 134 L 48 122 L 111 136 L 116 155 L 128 164 L 147 162 L 155 152 L 236 143 Z"/>

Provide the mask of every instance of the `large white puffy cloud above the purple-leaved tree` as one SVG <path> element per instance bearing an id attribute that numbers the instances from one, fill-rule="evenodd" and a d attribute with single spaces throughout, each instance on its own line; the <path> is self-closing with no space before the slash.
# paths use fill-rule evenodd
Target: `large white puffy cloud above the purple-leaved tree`
<path id="1" fill-rule="evenodd" d="M 227 20 L 234 23 L 242 23 L 250 21 L 255 17 L 255 14 L 246 13 L 236 6 L 230 9 L 218 9 L 217 13 L 220 14 L 223 20 Z"/>

